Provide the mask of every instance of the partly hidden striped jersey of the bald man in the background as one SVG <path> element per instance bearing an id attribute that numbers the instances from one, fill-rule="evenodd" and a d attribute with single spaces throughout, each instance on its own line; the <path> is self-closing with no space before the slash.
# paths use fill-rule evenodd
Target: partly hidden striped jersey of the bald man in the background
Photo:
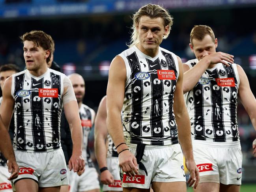
<path id="1" fill-rule="evenodd" d="M 85 158 L 86 164 L 90 167 L 93 166 L 92 160 L 90 159 L 90 151 L 88 147 L 89 134 L 94 124 L 95 111 L 85 104 L 82 104 L 79 109 L 79 115 L 83 129 L 83 146 L 82 155 Z"/>

